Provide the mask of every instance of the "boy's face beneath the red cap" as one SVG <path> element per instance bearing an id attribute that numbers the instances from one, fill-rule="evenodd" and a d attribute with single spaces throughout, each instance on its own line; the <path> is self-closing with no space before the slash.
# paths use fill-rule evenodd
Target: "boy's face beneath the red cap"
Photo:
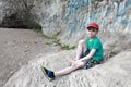
<path id="1" fill-rule="evenodd" d="M 98 29 L 94 27 L 87 27 L 86 33 L 87 33 L 87 36 L 92 39 L 98 34 Z"/>

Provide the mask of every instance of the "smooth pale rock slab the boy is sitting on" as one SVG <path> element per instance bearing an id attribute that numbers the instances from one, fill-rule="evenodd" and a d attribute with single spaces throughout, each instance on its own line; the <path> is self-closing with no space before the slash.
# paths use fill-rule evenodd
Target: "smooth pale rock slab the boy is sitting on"
<path id="1" fill-rule="evenodd" d="M 70 75 L 48 82 L 40 65 L 57 71 L 69 66 L 74 50 L 41 54 L 22 66 L 3 87 L 131 87 L 131 50 L 126 50 L 107 62 L 88 70 L 78 70 Z"/>

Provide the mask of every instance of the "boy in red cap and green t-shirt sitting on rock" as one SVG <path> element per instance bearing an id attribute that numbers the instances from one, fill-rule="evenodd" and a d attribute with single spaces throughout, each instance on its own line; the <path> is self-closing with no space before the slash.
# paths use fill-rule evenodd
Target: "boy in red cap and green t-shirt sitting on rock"
<path id="1" fill-rule="evenodd" d="M 49 80 L 52 80 L 57 76 L 63 76 L 78 69 L 88 69 L 96 64 L 99 64 L 103 60 L 103 45 L 99 38 L 96 36 L 98 34 L 98 24 L 87 24 L 87 37 L 86 39 L 82 39 L 79 41 L 76 57 L 74 60 L 71 61 L 71 66 L 55 72 L 41 66 L 44 75 L 46 75 Z"/>

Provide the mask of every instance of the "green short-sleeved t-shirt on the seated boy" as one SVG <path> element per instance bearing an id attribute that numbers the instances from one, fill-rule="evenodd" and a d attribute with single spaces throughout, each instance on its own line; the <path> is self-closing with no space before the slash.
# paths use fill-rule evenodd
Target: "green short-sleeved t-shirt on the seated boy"
<path id="1" fill-rule="evenodd" d="M 90 38 L 86 38 L 85 44 L 90 51 L 96 49 L 93 59 L 100 62 L 103 60 L 103 45 L 100 40 L 97 37 L 94 37 L 91 41 Z"/>

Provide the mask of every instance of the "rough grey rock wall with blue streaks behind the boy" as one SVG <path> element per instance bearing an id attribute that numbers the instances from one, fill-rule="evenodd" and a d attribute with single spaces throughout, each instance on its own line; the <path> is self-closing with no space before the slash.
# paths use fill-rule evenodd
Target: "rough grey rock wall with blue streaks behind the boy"
<path id="1" fill-rule="evenodd" d="M 131 0 L 0 0 L 0 16 L 1 27 L 41 28 L 70 45 L 85 37 L 90 22 L 131 34 Z"/>

